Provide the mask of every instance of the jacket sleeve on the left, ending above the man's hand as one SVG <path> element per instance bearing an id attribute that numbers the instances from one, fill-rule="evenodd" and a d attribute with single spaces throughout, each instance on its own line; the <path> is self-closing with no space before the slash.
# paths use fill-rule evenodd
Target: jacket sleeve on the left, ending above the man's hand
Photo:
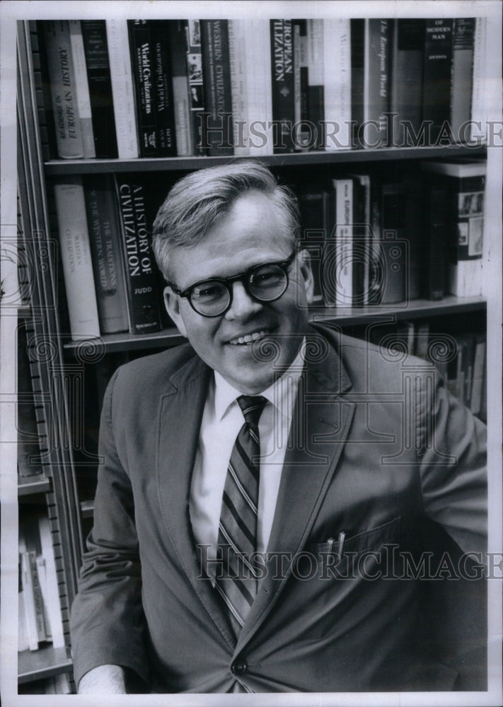
<path id="1" fill-rule="evenodd" d="M 146 627 L 132 487 L 120 464 L 112 432 L 113 391 L 105 393 L 100 422 L 100 467 L 94 527 L 71 609 L 76 684 L 98 665 L 120 665 L 148 682 Z"/>

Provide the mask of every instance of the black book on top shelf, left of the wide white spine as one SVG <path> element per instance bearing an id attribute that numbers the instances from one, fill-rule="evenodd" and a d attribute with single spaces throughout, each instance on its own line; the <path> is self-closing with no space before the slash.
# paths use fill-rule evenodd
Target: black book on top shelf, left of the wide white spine
<path id="1" fill-rule="evenodd" d="M 104 20 L 81 21 L 96 157 L 117 157 L 112 81 Z"/>

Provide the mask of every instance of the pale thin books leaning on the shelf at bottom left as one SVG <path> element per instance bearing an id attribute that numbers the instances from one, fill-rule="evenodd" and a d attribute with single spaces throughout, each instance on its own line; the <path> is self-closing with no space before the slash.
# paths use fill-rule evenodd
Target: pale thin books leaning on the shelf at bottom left
<path id="1" fill-rule="evenodd" d="M 50 520 L 40 515 L 19 531 L 18 650 L 47 643 L 65 645 Z"/>

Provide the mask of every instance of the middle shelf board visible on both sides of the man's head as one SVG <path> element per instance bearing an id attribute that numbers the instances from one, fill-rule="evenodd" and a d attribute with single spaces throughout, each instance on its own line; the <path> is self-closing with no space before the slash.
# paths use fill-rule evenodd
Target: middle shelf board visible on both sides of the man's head
<path id="1" fill-rule="evenodd" d="M 393 315 L 396 321 L 408 319 L 421 319 L 422 317 L 438 317 L 455 312 L 475 312 L 485 310 L 485 299 L 482 297 L 447 296 L 443 300 L 412 300 L 407 305 L 390 305 L 388 307 L 348 307 L 336 309 L 334 307 L 313 310 L 310 315 L 312 322 L 337 322 L 342 327 L 375 322 L 382 317 Z M 92 362 L 92 352 L 104 350 L 106 353 L 114 351 L 139 351 L 141 349 L 163 349 L 167 346 L 178 346 L 186 341 L 177 329 L 163 329 L 154 334 L 106 334 L 99 339 L 86 341 L 69 341 L 64 344 L 64 349 L 76 358 L 83 357 L 88 363 Z M 103 347 L 103 349 L 102 349 Z M 96 356 L 98 358 L 98 355 Z"/>

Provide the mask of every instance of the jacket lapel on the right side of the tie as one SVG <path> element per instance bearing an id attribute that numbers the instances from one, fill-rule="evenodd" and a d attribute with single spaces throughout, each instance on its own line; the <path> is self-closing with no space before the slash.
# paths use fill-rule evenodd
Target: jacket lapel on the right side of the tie
<path id="1" fill-rule="evenodd" d="M 294 556 L 306 542 L 349 432 L 354 404 L 347 402 L 340 393 L 350 385 L 333 349 L 321 362 L 309 361 L 306 356 L 268 551 Z M 282 578 L 274 579 L 275 562 L 277 560 L 267 563 L 267 575 L 259 584 L 236 653 L 243 649 L 265 620 L 291 573 L 289 567 Z"/>

